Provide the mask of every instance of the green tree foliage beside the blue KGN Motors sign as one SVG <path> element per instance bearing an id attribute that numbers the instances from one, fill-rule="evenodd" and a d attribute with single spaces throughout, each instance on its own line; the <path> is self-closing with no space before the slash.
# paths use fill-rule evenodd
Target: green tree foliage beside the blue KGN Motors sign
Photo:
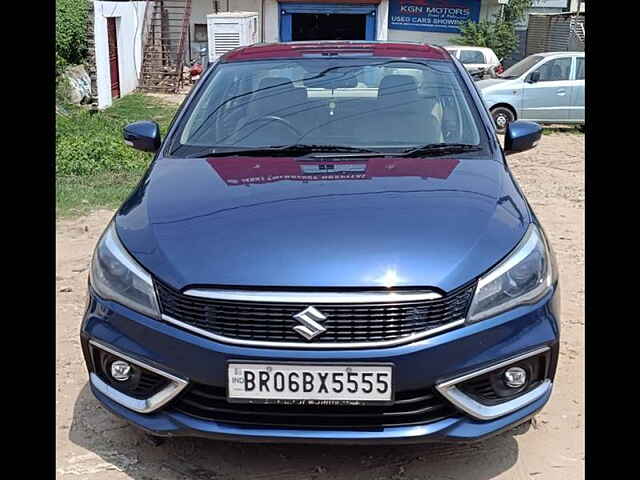
<path id="1" fill-rule="evenodd" d="M 510 0 L 505 5 L 502 15 L 495 15 L 493 20 L 480 22 L 467 21 L 460 25 L 460 38 L 454 40 L 458 45 L 488 47 L 498 58 L 505 58 L 518 48 L 518 37 L 515 24 L 522 21 L 532 0 Z"/>

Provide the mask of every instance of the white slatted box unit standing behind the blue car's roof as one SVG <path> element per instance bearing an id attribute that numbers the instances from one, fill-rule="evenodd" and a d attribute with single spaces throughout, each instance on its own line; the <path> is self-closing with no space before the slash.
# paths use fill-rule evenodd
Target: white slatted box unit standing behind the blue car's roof
<path id="1" fill-rule="evenodd" d="M 256 12 L 222 12 L 207 15 L 209 62 L 234 48 L 258 42 Z"/>

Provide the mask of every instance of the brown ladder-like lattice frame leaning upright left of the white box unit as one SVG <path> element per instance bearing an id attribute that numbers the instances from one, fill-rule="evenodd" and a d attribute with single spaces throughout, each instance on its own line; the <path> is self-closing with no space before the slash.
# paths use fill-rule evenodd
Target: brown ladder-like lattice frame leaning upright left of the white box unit
<path id="1" fill-rule="evenodd" d="M 188 58 L 191 0 L 155 0 L 145 20 L 138 86 L 142 91 L 177 93 Z"/>

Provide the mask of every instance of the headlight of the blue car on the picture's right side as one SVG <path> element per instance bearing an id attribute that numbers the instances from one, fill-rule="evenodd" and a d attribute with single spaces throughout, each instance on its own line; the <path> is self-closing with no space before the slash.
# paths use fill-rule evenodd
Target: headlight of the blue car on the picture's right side
<path id="1" fill-rule="evenodd" d="M 549 291 L 554 281 L 553 254 L 538 227 L 531 224 L 513 252 L 480 277 L 467 322 L 534 303 Z"/>

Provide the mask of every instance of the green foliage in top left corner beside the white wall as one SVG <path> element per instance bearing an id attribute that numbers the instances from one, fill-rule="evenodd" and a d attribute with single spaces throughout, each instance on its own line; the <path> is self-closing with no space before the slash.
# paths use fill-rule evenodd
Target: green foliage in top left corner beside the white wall
<path id="1" fill-rule="evenodd" d="M 56 75 L 87 55 L 88 0 L 56 0 Z"/>

